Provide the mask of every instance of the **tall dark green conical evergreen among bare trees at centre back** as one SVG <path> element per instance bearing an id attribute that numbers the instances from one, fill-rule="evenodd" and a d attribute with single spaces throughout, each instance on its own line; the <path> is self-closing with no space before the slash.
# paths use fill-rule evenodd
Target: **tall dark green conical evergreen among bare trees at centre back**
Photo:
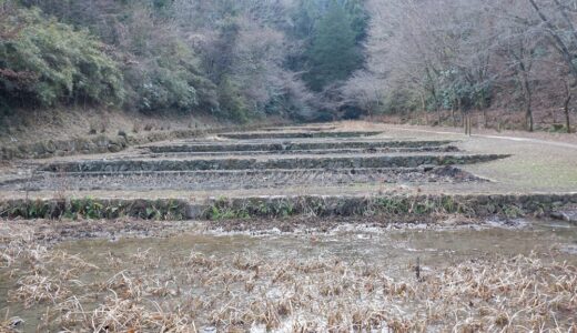
<path id="1" fill-rule="evenodd" d="M 356 46 L 352 17 L 343 6 L 331 1 L 326 13 L 315 27 L 307 51 L 308 72 L 304 79 L 314 91 L 328 83 L 347 79 L 360 68 L 362 56 Z"/>

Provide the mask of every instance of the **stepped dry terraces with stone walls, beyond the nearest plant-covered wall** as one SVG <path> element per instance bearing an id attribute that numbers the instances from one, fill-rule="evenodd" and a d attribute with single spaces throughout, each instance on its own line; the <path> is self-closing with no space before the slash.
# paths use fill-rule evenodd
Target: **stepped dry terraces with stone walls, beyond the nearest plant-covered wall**
<path id="1" fill-rule="evenodd" d="M 320 139 L 300 139 L 308 134 Z M 223 135 L 259 140 L 155 144 L 120 159 L 40 165 L 30 178 L 6 182 L 0 189 L 205 191 L 483 182 L 454 165 L 506 158 L 467 154 L 451 141 L 358 140 L 361 135 L 362 132 L 261 132 Z M 296 139 L 287 141 L 285 137 Z M 340 139 L 324 139 L 332 137 Z"/>

